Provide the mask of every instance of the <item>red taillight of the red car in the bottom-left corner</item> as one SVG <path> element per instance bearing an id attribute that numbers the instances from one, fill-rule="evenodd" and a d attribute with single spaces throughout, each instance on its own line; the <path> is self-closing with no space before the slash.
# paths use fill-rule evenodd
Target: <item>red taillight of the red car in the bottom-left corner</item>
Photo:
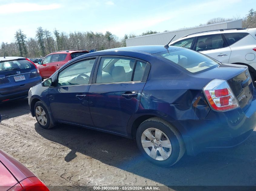
<path id="1" fill-rule="evenodd" d="M 22 180 L 8 191 L 50 191 L 37 177 Z"/>

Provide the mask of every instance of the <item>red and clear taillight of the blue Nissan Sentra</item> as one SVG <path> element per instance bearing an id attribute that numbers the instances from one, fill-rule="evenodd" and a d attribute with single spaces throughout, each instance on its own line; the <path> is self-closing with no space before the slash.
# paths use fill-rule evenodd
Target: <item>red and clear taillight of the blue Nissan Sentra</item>
<path id="1" fill-rule="evenodd" d="M 226 80 L 214 79 L 204 87 L 204 94 L 214 110 L 227 111 L 239 107 Z"/>

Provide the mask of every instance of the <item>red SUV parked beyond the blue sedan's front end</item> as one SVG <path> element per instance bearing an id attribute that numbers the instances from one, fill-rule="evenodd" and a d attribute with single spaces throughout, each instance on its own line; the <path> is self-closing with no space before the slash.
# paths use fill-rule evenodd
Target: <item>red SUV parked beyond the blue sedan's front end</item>
<path id="1" fill-rule="evenodd" d="M 87 53 L 89 53 L 87 50 L 62 50 L 48 54 L 42 62 L 38 62 L 40 75 L 42 78 L 49 78 L 69 60 Z"/>

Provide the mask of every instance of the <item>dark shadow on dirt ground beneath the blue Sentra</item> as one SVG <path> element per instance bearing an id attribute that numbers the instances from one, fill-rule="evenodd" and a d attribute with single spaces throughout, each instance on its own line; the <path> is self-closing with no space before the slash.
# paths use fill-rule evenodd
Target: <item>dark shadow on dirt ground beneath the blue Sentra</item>
<path id="1" fill-rule="evenodd" d="M 36 123 L 35 130 L 44 138 L 70 148 L 71 152 L 65 156 L 67 162 L 79 152 L 166 186 L 256 185 L 255 131 L 235 148 L 195 157 L 184 155 L 174 166 L 164 168 L 146 161 L 134 140 L 65 124 L 45 130 Z"/>

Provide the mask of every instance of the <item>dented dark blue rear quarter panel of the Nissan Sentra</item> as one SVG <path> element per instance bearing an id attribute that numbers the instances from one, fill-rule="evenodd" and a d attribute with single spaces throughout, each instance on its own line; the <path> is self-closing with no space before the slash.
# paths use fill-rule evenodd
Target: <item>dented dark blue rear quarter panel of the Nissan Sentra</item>
<path id="1" fill-rule="evenodd" d="M 178 65 L 159 59 L 151 62 L 155 63 L 151 64 L 138 111 L 129 121 L 128 133 L 132 122 L 143 115 L 158 116 L 169 122 L 204 119 L 211 109 L 202 89 L 210 80 L 195 78 Z"/>

